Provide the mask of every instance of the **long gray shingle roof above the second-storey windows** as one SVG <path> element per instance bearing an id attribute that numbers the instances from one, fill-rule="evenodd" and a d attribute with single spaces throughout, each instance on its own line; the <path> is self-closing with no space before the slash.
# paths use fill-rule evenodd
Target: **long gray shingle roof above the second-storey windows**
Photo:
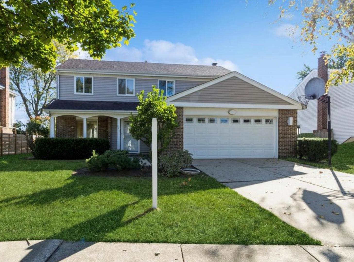
<path id="1" fill-rule="evenodd" d="M 231 72 L 222 66 L 182 65 L 162 63 L 99 61 L 86 59 L 68 59 L 57 66 L 58 70 L 100 71 L 116 73 L 184 75 L 184 76 L 223 76 Z"/>

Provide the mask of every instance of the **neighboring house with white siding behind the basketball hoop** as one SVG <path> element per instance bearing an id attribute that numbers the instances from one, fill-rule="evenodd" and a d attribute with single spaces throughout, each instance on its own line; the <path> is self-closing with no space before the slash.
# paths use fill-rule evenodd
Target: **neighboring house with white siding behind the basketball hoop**
<path id="1" fill-rule="evenodd" d="M 321 77 L 325 82 L 331 70 L 327 68 L 322 54 L 318 58 L 318 67 L 313 69 L 289 94 L 297 99 L 304 95 L 307 82 L 313 77 Z M 332 136 L 339 143 L 354 141 L 354 83 L 343 83 L 331 86 L 328 95 L 331 97 L 331 128 Z M 322 95 L 322 100 L 327 99 L 327 94 Z M 315 136 L 327 138 L 327 103 L 320 100 L 311 100 L 307 109 L 298 111 L 298 132 L 313 133 Z"/>

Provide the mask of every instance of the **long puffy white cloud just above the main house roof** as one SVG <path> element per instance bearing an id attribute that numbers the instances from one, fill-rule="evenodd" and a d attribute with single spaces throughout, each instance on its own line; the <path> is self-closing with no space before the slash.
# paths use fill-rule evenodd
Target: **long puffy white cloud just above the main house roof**
<path id="1" fill-rule="evenodd" d="M 126 46 L 118 47 L 113 51 L 109 51 L 104 59 L 132 62 L 143 62 L 147 60 L 151 63 L 194 65 L 211 65 L 212 63 L 218 63 L 218 65 L 229 70 L 239 71 L 238 66 L 230 60 L 214 59 L 211 57 L 198 58 L 193 47 L 179 42 L 172 43 L 166 40 L 146 39 L 141 49 Z"/>

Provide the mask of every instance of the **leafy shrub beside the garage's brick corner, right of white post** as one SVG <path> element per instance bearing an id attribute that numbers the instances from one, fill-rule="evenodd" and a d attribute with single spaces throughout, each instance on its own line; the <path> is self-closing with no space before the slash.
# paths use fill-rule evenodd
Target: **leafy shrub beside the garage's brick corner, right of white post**
<path id="1" fill-rule="evenodd" d="M 167 177 L 179 176 L 181 168 L 192 165 L 192 154 L 188 150 L 177 150 L 159 159 L 160 173 Z"/>

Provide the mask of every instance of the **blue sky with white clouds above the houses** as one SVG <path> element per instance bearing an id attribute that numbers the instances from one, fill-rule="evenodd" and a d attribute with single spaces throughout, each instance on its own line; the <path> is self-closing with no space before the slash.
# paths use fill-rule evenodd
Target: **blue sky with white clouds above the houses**
<path id="1" fill-rule="evenodd" d="M 112 2 L 119 9 L 129 5 Z M 301 25 L 301 11 L 274 23 L 279 10 L 267 2 L 135 1 L 136 37 L 129 46 L 108 50 L 104 59 L 207 65 L 216 61 L 287 95 L 298 82 L 296 72 L 304 63 L 316 68 L 319 52 L 330 51 L 332 43 L 320 40 L 318 52 L 312 53 L 298 31 L 289 36 L 290 29 Z M 17 110 L 16 118 L 23 119 L 22 111 Z"/>

